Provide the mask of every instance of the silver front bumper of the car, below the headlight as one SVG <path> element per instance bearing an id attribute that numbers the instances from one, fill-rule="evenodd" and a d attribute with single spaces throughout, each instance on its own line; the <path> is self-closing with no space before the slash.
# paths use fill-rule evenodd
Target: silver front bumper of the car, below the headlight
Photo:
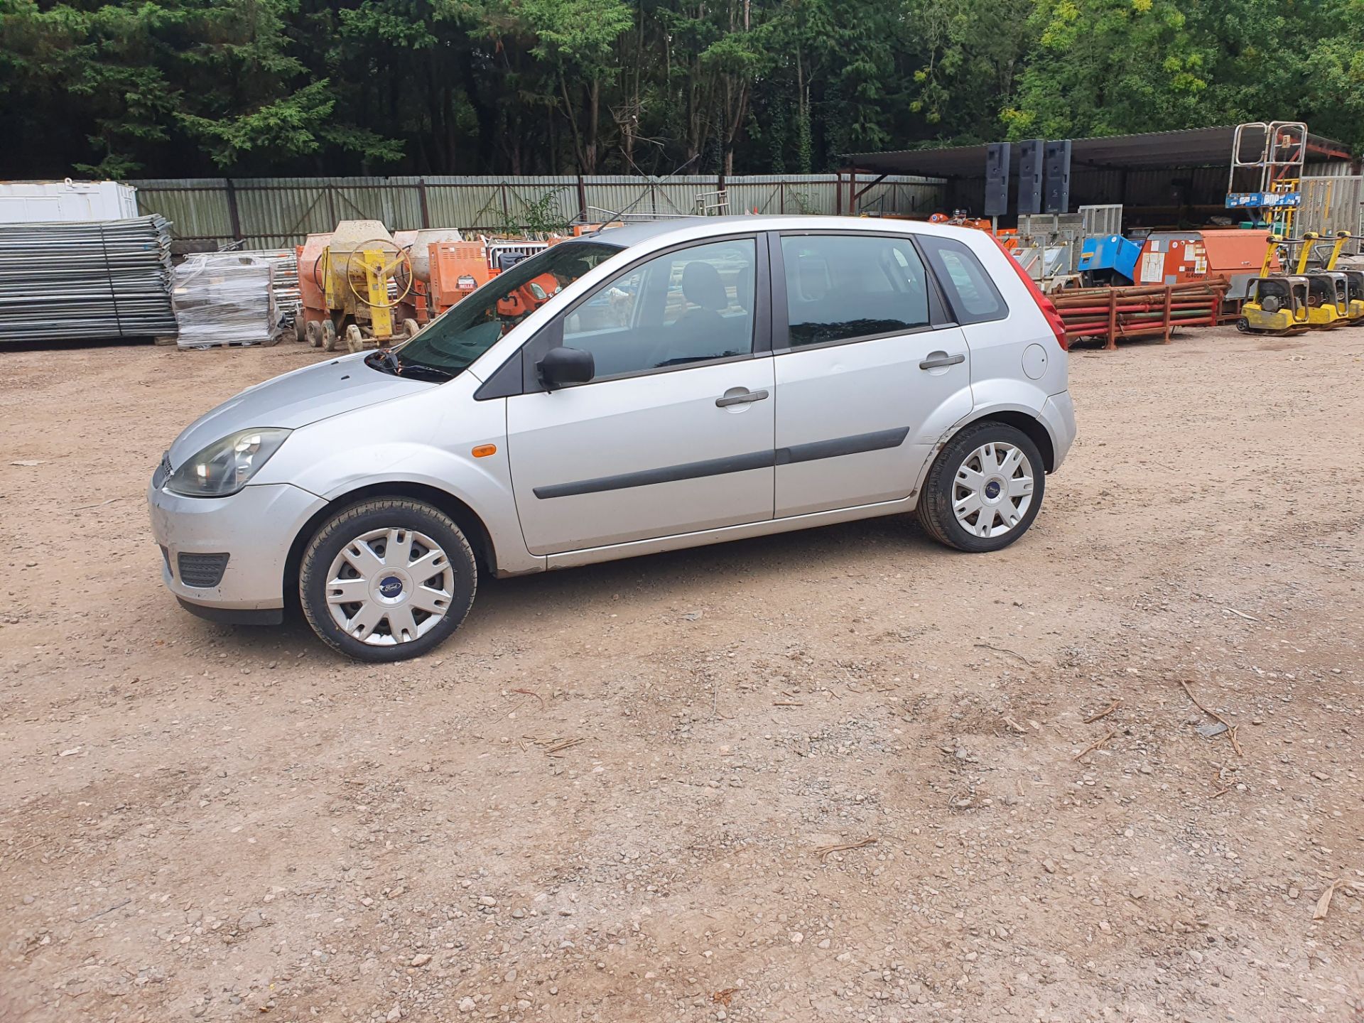
<path id="1" fill-rule="evenodd" d="M 289 547 L 326 502 L 286 483 L 248 486 L 229 498 L 186 498 L 153 481 L 147 506 L 162 551 L 161 578 L 181 604 L 213 621 L 267 622 L 278 621 L 284 607 Z M 216 585 L 191 587 L 180 578 L 181 552 L 226 554 L 228 563 Z"/>

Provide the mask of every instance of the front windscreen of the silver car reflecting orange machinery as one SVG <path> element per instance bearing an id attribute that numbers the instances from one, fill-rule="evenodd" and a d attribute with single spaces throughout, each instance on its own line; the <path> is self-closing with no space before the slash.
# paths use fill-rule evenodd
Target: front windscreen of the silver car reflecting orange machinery
<path id="1" fill-rule="evenodd" d="M 473 364 L 512 327 L 592 267 L 621 252 L 600 241 L 562 241 L 503 270 L 451 306 L 397 349 L 404 366 L 454 376 Z"/>

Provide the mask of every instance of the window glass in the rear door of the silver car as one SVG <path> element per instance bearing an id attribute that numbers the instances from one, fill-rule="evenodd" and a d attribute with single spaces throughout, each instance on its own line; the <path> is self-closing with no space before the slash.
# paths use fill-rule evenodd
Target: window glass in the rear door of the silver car
<path id="1" fill-rule="evenodd" d="M 928 274 L 908 239 L 784 235 L 782 262 L 790 348 L 929 325 Z"/>

